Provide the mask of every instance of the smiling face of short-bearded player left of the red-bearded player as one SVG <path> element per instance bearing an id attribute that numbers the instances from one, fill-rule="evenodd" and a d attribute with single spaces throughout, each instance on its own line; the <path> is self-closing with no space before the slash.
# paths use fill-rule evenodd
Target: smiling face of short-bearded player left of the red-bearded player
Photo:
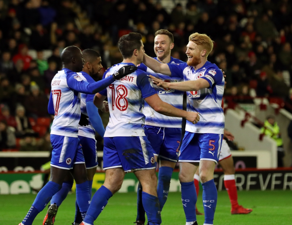
<path id="1" fill-rule="evenodd" d="M 154 39 L 154 52 L 160 60 L 165 59 L 170 55 L 171 49 L 173 49 L 173 43 L 170 38 L 165 34 L 158 34 Z"/>

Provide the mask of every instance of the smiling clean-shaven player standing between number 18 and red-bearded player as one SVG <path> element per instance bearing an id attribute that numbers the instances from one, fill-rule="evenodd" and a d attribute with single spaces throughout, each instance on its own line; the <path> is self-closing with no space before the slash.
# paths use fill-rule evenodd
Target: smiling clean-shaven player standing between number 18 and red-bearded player
<path id="1" fill-rule="evenodd" d="M 155 32 L 154 52 L 157 55 L 154 59 L 161 63 L 178 64 L 183 61 L 171 57 L 171 49 L 173 49 L 173 34 L 168 30 L 160 29 Z M 164 74 L 155 73 L 152 69 L 144 64 L 138 65 L 147 73 L 147 75 L 155 76 L 166 82 L 183 81 L 180 77 L 169 77 Z M 153 83 L 151 82 L 152 86 Z M 165 89 L 154 85 L 159 98 L 179 109 L 183 109 L 183 91 Z M 178 161 L 178 152 L 181 142 L 181 126 L 182 118 L 165 116 L 156 112 L 145 102 L 143 114 L 145 115 L 144 131 L 149 140 L 155 158 L 155 162 L 159 157 L 159 173 L 157 184 L 157 196 L 162 210 L 168 196 L 171 175 Z M 142 186 L 139 183 L 137 191 L 137 218 L 136 225 L 144 225 L 145 210 L 142 205 Z"/>

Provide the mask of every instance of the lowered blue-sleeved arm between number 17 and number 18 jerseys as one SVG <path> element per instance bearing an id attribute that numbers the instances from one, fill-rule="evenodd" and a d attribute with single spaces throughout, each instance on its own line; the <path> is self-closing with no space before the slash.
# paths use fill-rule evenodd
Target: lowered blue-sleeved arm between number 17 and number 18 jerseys
<path id="1" fill-rule="evenodd" d="M 86 111 L 94 130 L 103 137 L 105 135 L 105 128 L 98 113 L 98 108 L 95 107 L 93 102 L 88 101 L 86 102 Z"/>

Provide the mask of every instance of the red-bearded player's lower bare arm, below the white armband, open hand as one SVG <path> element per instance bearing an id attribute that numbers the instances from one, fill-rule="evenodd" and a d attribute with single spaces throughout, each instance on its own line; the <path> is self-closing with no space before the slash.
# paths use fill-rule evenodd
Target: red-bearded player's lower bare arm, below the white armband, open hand
<path id="1" fill-rule="evenodd" d="M 197 91 L 203 88 L 209 88 L 210 84 L 205 79 L 197 79 L 195 81 L 182 81 L 182 82 L 171 82 L 166 83 L 150 75 L 153 83 L 162 88 L 171 88 L 180 91 Z"/>

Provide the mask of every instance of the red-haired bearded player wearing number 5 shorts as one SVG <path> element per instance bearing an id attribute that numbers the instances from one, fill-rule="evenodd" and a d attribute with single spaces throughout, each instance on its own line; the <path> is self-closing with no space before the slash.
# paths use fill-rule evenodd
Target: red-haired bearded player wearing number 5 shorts
<path id="1" fill-rule="evenodd" d="M 179 179 L 186 224 L 197 224 L 194 193 L 194 174 L 200 165 L 199 175 L 203 186 L 203 205 L 206 224 L 213 224 L 217 204 L 217 189 L 213 179 L 219 160 L 224 132 L 224 114 L 221 107 L 224 78 L 222 71 L 207 56 L 213 41 L 205 34 L 194 33 L 187 44 L 187 63 L 162 64 L 145 56 L 143 63 L 155 72 L 168 76 L 181 76 L 183 82 L 166 83 L 150 76 L 158 86 L 187 92 L 187 111 L 199 112 L 197 124 L 186 123 L 186 132 L 180 148 Z"/>

